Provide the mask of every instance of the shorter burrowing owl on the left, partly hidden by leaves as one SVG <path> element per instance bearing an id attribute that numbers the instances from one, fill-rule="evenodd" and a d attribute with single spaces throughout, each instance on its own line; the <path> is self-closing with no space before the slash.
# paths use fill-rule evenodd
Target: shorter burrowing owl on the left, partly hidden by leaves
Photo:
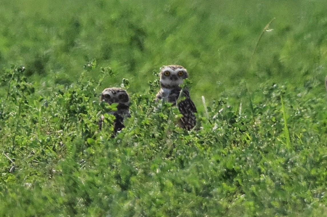
<path id="1" fill-rule="evenodd" d="M 105 101 L 109 105 L 112 103 L 118 103 L 117 111 L 111 111 L 108 114 L 112 114 L 116 117 L 114 122 L 114 134 L 117 131 L 123 129 L 125 126 L 123 124 L 124 118 L 130 117 L 129 114 L 129 97 L 126 90 L 121 88 L 106 88 L 101 93 L 101 101 Z M 101 115 L 101 119 L 99 121 L 99 128 L 102 129 L 102 123 L 104 121 L 104 116 Z"/>

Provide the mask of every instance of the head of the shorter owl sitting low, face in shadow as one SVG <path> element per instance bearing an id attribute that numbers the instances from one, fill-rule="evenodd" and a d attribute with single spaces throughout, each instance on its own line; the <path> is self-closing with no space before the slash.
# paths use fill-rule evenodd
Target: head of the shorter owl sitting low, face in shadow
<path id="1" fill-rule="evenodd" d="M 129 106 L 129 97 L 124 89 L 120 88 L 106 88 L 102 91 L 101 101 L 105 101 L 108 104 L 118 103 Z"/>

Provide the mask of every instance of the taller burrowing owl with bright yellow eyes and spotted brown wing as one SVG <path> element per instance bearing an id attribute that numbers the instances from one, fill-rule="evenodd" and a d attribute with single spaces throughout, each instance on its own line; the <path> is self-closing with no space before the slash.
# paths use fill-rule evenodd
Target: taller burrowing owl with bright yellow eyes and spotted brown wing
<path id="1" fill-rule="evenodd" d="M 183 117 L 181 118 L 181 127 L 191 130 L 197 120 L 194 115 L 197 112 L 193 101 L 191 100 L 190 93 L 186 89 L 181 89 L 180 85 L 183 80 L 188 77 L 188 73 L 183 66 L 180 65 L 167 65 L 160 68 L 160 91 L 156 95 L 156 101 L 163 99 L 173 105 L 177 104 Z M 178 98 L 181 97 L 181 101 Z"/>

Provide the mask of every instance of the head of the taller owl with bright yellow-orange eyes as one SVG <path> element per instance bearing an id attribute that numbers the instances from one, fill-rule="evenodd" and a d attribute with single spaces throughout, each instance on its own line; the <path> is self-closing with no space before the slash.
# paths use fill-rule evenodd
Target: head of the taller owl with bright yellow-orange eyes
<path id="1" fill-rule="evenodd" d="M 179 86 L 188 77 L 186 69 L 181 65 L 167 65 L 159 73 L 162 86 Z"/>

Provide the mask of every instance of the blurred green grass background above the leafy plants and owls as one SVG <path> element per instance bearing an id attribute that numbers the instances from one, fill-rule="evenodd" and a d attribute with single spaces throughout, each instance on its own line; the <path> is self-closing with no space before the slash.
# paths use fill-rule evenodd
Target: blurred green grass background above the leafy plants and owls
<path id="1" fill-rule="evenodd" d="M 76 81 L 92 60 L 97 68 L 89 78 L 96 78 L 100 67 L 111 67 L 115 76 L 103 87 L 127 78 L 131 93 L 147 89 L 162 65 L 183 65 L 198 105 L 201 95 L 210 104 L 240 83 L 250 91 L 267 80 L 324 91 L 327 1 L 0 3 L 0 67 L 25 65 L 42 91 Z M 268 27 L 273 30 L 263 33 L 273 18 Z"/>

